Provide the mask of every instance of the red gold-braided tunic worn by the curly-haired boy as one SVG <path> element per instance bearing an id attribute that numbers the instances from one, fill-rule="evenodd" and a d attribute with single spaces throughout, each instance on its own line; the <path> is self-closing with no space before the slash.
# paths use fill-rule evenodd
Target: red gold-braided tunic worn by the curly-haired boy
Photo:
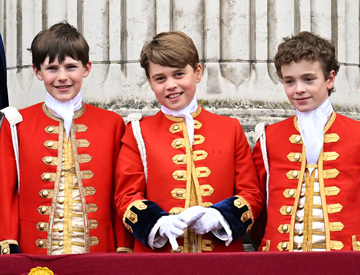
<path id="1" fill-rule="evenodd" d="M 307 250 L 321 248 L 322 245 L 316 246 L 311 241 L 323 234 L 325 250 L 359 250 L 360 196 L 357 193 L 360 159 L 356 152 L 360 151 L 357 138 L 360 122 L 332 113 L 324 127 L 324 143 L 317 164 L 318 178 L 314 179 L 319 183 L 319 191 L 310 185 L 310 193 L 301 191 L 306 155 L 296 116 L 268 125 L 265 133 L 269 165 L 268 209 L 259 251 L 306 250 L 304 245 L 294 244 L 295 236 L 304 236 Z M 259 141 L 253 149 L 253 158 L 265 192 L 266 171 Z M 312 204 L 308 197 L 313 195 L 321 198 L 321 204 Z M 305 197 L 303 205 L 298 203 L 300 197 Z M 323 217 L 313 218 L 308 212 L 303 219 L 296 218 L 296 211 L 302 208 L 305 213 L 322 209 Z M 324 231 L 313 230 L 311 226 L 315 222 L 323 222 Z M 299 233 L 294 230 L 295 223 L 304 223 L 308 227 Z M 256 222 L 256 225 L 259 224 Z"/>

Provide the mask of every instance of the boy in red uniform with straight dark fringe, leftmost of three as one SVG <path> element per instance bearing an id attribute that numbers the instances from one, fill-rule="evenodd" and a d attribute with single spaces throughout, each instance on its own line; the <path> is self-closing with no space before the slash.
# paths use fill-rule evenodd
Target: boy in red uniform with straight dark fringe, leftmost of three
<path id="1" fill-rule="evenodd" d="M 87 42 L 60 22 L 40 31 L 30 50 L 46 98 L 19 111 L 19 186 L 9 122 L 1 126 L 0 252 L 128 251 L 124 241 L 132 236 L 124 237 L 113 210 L 125 125 L 120 115 L 81 100 L 82 78 L 91 69 Z"/>

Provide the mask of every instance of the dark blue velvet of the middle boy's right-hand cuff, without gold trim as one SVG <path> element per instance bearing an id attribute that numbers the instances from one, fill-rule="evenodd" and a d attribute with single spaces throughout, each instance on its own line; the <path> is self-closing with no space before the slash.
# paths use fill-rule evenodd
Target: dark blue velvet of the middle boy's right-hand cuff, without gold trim
<path id="1" fill-rule="evenodd" d="M 241 221 L 241 215 L 248 211 L 248 207 L 247 205 L 244 205 L 241 208 L 236 207 L 234 205 L 234 200 L 237 198 L 237 196 L 231 196 L 209 206 L 218 210 L 226 219 L 232 231 L 232 240 L 244 235 L 247 227 L 252 223 L 251 218 L 245 220 L 244 222 Z"/>

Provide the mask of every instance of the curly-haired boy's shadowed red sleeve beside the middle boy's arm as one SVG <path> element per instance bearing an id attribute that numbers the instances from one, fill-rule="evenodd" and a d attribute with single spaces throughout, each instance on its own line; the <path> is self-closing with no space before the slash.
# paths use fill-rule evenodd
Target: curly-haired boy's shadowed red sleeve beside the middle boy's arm
<path id="1" fill-rule="evenodd" d="M 257 140 L 256 145 L 253 147 L 252 158 L 255 163 L 257 176 L 261 186 L 261 192 L 263 193 L 263 196 L 266 197 L 266 170 L 263 162 L 260 140 Z M 265 226 L 266 226 L 266 217 L 267 217 L 267 211 L 266 211 L 266 202 L 265 202 L 265 206 L 263 207 L 263 210 L 260 213 L 257 220 L 254 222 L 254 225 L 252 226 L 250 232 L 250 236 L 255 245 L 260 244 L 261 239 L 264 235 Z"/>

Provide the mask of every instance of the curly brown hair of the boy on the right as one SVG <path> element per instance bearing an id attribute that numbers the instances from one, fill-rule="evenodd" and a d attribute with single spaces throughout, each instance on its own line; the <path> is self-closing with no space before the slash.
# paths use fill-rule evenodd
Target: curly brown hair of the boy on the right
<path id="1" fill-rule="evenodd" d="M 277 46 L 274 57 L 277 75 L 282 78 L 281 65 L 291 61 L 298 62 L 302 59 L 319 61 L 325 79 L 328 78 L 331 70 L 335 75 L 339 69 L 339 64 L 335 56 L 335 46 L 331 40 L 326 40 L 309 31 L 301 31 L 295 36 L 282 38 Z M 328 95 L 335 91 L 334 87 L 328 90 Z"/>

